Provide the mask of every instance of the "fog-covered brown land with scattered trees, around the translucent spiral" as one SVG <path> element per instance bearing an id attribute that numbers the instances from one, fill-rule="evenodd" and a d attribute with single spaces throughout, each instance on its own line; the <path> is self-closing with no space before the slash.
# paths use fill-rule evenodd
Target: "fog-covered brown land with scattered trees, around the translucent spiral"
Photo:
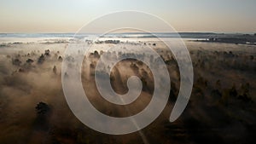
<path id="1" fill-rule="evenodd" d="M 128 92 L 128 78 L 141 79 L 142 93 L 129 105 L 106 101 L 96 88 L 94 76 L 102 55 L 118 58 L 124 49 L 146 49 L 149 43 L 165 62 L 172 84 L 164 111 L 142 130 L 150 143 L 253 141 L 255 46 L 186 41 L 194 66 L 194 86 L 188 107 L 177 121 L 170 123 L 180 84 L 172 52 L 160 42 L 95 43 L 83 58 L 81 80 L 84 92 L 98 111 L 123 118 L 147 107 L 154 93 L 154 77 L 142 61 L 121 60 L 109 73 L 111 86 L 119 95 Z M 105 135 L 90 130 L 74 116 L 61 86 L 62 61 L 73 60 L 71 55 L 64 54 L 67 46 L 66 42 L 58 41 L 8 43 L 0 47 L 0 143 L 143 143 L 139 132 Z M 147 54 L 147 50 L 130 52 L 136 56 Z M 150 60 L 150 55 L 143 57 Z M 70 74 L 67 72 L 65 77 Z"/>

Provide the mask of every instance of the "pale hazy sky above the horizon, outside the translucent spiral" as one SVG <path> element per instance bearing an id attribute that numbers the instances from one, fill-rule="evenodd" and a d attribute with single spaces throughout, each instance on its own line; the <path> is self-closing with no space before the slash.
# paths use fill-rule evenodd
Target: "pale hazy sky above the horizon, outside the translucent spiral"
<path id="1" fill-rule="evenodd" d="M 119 10 L 156 14 L 178 32 L 256 32 L 256 0 L 0 0 L 0 32 L 77 32 Z"/>

